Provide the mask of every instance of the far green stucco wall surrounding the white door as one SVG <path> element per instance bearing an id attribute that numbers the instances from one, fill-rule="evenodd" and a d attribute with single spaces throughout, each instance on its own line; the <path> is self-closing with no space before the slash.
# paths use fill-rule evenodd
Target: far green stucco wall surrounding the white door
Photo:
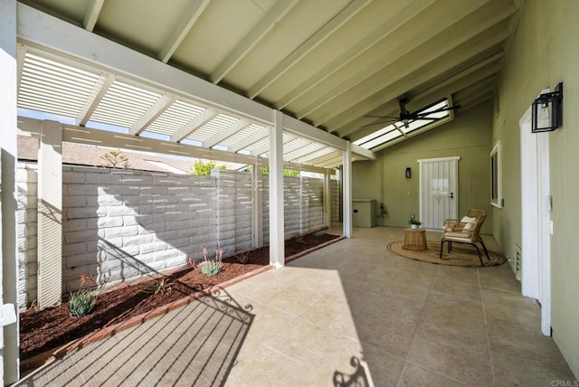
<path id="1" fill-rule="evenodd" d="M 417 160 L 460 156 L 459 214 L 470 208 L 484 210 L 489 219 L 483 233 L 492 231 L 490 206 L 490 150 L 492 104 L 486 102 L 461 111 L 451 122 L 385 148 L 375 161 L 353 164 L 352 197 L 384 203 L 385 216 L 377 225 L 407 227 L 410 214 L 419 213 L 419 174 Z M 406 167 L 412 178 L 406 179 Z"/>

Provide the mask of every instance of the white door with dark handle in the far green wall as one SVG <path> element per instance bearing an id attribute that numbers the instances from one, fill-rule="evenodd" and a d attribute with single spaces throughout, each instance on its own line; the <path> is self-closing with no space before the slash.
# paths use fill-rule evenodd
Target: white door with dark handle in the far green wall
<path id="1" fill-rule="evenodd" d="M 445 219 L 456 219 L 459 203 L 460 157 L 418 160 L 420 165 L 420 222 L 441 230 Z"/>

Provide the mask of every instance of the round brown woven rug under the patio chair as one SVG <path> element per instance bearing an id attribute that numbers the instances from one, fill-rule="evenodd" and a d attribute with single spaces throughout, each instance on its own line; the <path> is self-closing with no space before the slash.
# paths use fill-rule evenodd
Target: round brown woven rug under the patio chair
<path id="1" fill-rule="evenodd" d="M 444 243 L 442 259 L 440 259 L 440 241 L 426 241 L 428 250 L 424 251 L 404 250 L 402 248 L 403 243 L 403 241 L 393 241 L 388 244 L 388 250 L 411 260 L 422 260 L 422 262 L 436 263 L 439 265 L 480 267 L 479 254 L 477 254 L 477 250 L 470 245 L 453 243 L 452 252 L 449 254 L 447 244 Z M 482 261 L 485 267 L 502 265 L 507 261 L 503 256 L 494 251 L 489 250 L 490 260 L 487 260 L 484 250 L 480 249 L 480 253 L 482 254 Z"/>

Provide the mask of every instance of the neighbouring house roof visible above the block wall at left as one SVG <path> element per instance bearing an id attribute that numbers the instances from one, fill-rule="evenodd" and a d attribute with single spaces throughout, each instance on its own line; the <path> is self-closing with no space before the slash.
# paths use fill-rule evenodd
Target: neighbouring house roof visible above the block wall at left
<path id="1" fill-rule="evenodd" d="M 65 165 L 87 165 L 103 166 L 107 165 L 102 158 L 109 153 L 110 148 L 100 146 L 86 146 L 82 144 L 62 143 L 62 164 Z M 121 153 L 128 157 L 129 169 L 143 171 L 172 172 L 188 174 L 190 166 L 195 163 L 195 159 L 190 162 L 169 157 L 147 154 L 144 152 L 134 153 L 122 150 Z M 18 160 L 38 161 L 38 139 L 33 137 L 18 136 Z"/>

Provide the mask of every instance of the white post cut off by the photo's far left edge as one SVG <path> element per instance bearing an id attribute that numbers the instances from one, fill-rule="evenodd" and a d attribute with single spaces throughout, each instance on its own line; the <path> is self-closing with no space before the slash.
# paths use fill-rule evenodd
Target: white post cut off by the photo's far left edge
<path id="1" fill-rule="evenodd" d="M 16 260 L 16 133 L 18 116 L 16 90 L 16 0 L 0 0 L 0 218 L 2 265 L 0 265 L 0 381 L 3 385 L 19 379 L 19 326 L 15 317 L 18 303 Z M 14 321 L 15 320 L 15 321 Z"/>

